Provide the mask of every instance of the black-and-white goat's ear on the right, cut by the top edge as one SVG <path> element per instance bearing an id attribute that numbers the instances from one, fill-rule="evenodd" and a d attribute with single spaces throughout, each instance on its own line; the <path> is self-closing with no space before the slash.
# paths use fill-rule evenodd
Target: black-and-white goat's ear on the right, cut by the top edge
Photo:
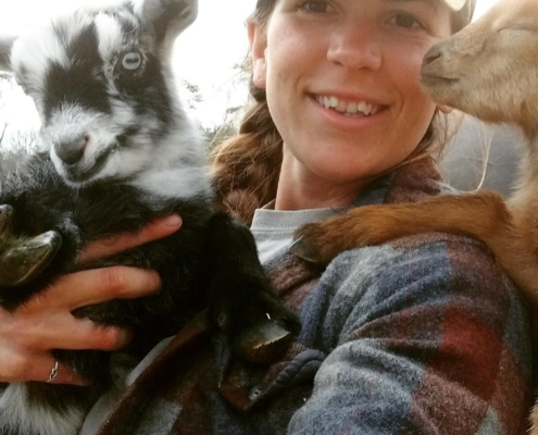
<path id="1" fill-rule="evenodd" d="M 143 32 L 154 38 L 161 52 L 167 53 L 176 37 L 198 15 L 198 0 L 136 0 L 135 12 Z"/>

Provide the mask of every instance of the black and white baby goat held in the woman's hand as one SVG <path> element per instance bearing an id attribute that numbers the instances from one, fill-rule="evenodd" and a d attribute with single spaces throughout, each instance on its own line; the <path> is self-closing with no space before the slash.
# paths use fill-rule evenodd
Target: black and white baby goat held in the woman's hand
<path id="1" fill-rule="evenodd" d="M 122 355 L 135 361 L 208 304 L 236 350 L 245 335 L 272 343 L 299 327 L 272 294 L 248 228 L 214 211 L 204 147 L 176 100 L 171 50 L 196 15 L 196 0 L 139 0 L 78 11 L 0 44 L 0 70 L 33 97 L 47 146 L 0 162 L 0 304 L 14 310 L 76 269 L 153 269 L 163 283 L 158 296 L 75 312 L 129 325 L 135 338 Z M 184 221 L 175 235 L 75 264 L 88 241 L 171 212 Z M 3 384 L 0 434 L 74 435 L 113 384 L 114 355 L 54 352 L 91 386 Z"/>

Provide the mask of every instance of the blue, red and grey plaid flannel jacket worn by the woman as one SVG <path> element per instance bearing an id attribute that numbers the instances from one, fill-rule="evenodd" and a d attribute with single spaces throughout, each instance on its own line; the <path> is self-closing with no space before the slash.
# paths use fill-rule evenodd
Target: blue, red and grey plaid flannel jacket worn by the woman
<path id="1" fill-rule="evenodd" d="M 440 190 L 429 160 L 386 202 Z M 426 234 L 343 252 L 323 272 L 270 270 L 302 333 L 271 366 L 227 364 L 199 316 L 123 395 L 100 435 L 523 434 L 527 313 L 476 240 Z M 238 313 L 240 315 L 240 313 Z"/>

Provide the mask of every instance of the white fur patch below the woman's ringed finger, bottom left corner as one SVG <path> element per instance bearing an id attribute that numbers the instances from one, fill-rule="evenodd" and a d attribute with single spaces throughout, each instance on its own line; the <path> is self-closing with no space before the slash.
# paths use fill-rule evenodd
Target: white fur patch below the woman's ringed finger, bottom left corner
<path id="1" fill-rule="evenodd" d="M 53 412 L 26 399 L 25 384 L 10 384 L 0 396 L 0 433 L 27 435 L 76 435 L 85 412 L 71 409 Z"/>

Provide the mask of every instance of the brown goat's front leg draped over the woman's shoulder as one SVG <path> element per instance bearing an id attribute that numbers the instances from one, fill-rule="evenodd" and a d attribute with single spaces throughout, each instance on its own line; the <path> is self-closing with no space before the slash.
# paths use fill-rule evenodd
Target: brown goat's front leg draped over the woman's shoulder
<path id="1" fill-rule="evenodd" d="M 497 192 L 442 195 L 402 204 L 365 206 L 296 234 L 292 253 L 327 264 L 338 253 L 423 233 L 466 235 L 485 243 L 503 271 L 538 307 L 534 223 L 514 219 Z"/>

